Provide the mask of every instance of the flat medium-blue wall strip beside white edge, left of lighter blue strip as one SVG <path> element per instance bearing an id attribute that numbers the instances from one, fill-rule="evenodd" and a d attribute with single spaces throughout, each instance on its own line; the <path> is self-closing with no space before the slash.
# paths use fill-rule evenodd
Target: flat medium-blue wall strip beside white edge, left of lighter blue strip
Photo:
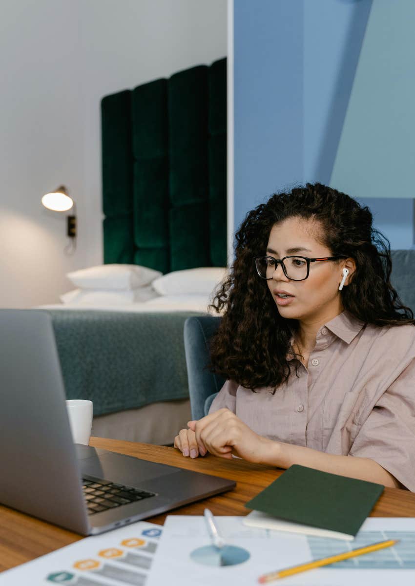
<path id="1" fill-rule="evenodd" d="M 303 177 L 303 2 L 234 2 L 234 222 Z"/>

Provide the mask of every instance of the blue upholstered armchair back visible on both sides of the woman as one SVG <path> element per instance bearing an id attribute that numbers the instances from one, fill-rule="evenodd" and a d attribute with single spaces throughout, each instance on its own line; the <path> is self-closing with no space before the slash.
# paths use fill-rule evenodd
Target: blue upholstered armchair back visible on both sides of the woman
<path id="1" fill-rule="evenodd" d="M 392 250 L 392 284 L 403 303 L 415 311 L 415 250 Z M 222 388 L 224 379 L 210 372 L 209 338 L 220 323 L 219 317 L 195 316 L 186 319 L 184 328 L 186 365 L 192 418 L 208 414 L 210 404 Z"/>

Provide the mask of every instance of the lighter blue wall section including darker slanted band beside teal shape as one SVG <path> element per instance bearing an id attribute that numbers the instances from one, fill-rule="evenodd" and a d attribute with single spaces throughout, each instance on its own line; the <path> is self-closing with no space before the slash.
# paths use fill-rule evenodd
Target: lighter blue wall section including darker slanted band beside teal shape
<path id="1" fill-rule="evenodd" d="M 370 6 L 304 2 L 304 182 L 330 180 Z"/>

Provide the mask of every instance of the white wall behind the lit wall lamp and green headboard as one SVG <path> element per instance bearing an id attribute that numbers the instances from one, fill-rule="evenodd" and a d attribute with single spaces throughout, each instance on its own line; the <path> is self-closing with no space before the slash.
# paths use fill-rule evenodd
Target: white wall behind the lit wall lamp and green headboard
<path id="1" fill-rule="evenodd" d="M 58 301 L 64 274 L 102 261 L 100 99 L 226 54 L 226 0 L 2 0 L 0 306 Z M 40 196 L 64 183 L 64 216 Z"/>

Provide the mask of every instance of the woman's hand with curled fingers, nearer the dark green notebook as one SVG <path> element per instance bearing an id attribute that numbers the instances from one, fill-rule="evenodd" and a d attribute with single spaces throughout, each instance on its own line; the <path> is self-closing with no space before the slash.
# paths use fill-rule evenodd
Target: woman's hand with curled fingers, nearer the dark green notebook
<path id="1" fill-rule="evenodd" d="M 234 454 L 250 462 L 266 462 L 271 445 L 275 444 L 252 431 L 229 409 L 220 409 L 198 421 L 189 421 L 188 425 L 189 431 L 195 434 L 196 444 L 221 458 L 230 459 Z"/>

